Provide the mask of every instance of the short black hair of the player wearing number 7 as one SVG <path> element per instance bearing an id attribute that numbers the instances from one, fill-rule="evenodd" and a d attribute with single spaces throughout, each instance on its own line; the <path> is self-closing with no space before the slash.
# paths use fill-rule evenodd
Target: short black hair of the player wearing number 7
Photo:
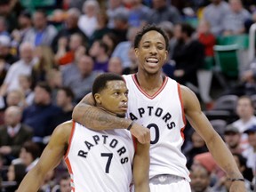
<path id="1" fill-rule="evenodd" d="M 109 81 L 118 81 L 118 80 L 124 81 L 123 76 L 119 76 L 113 73 L 104 73 L 104 74 L 100 74 L 100 76 L 97 76 L 96 79 L 94 80 L 94 83 L 92 84 L 93 98 L 96 93 L 99 93 L 106 88 L 107 83 Z"/>

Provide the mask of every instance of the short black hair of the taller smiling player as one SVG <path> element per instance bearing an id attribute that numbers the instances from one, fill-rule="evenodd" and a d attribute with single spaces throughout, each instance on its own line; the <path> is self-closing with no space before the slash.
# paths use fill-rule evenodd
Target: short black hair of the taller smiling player
<path id="1" fill-rule="evenodd" d="M 156 25 L 146 25 L 144 26 L 144 28 L 142 28 L 137 35 L 134 38 L 134 44 L 133 47 L 134 48 L 138 48 L 141 38 L 142 36 L 144 36 L 146 33 L 148 33 L 148 31 L 157 31 L 158 33 L 160 33 L 162 36 L 164 36 L 164 41 L 165 41 L 165 50 L 169 50 L 169 38 L 166 35 L 166 33 L 164 32 L 164 30 L 162 28 L 157 27 Z"/>

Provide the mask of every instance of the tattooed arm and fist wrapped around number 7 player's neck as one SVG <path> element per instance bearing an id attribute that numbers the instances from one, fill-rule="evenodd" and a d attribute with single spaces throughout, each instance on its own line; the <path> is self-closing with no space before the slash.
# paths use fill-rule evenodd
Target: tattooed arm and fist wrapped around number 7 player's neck
<path id="1" fill-rule="evenodd" d="M 84 96 L 73 110 L 72 118 L 79 124 L 83 124 L 95 131 L 113 130 L 116 128 L 127 129 L 132 124 L 131 119 L 120 118 L 108 114 L 106 111 L 94 106 L 92 93 Z M 140 124 L 132 124 L 130 132 L 141 143 L 149 142 L 149 130 Z"/>

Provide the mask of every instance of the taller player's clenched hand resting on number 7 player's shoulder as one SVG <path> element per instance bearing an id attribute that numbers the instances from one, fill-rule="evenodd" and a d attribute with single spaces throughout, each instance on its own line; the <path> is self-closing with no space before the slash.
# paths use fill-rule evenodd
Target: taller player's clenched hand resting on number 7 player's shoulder
<path id="1" fill-rule="evenodd" d="M 137 140 L 141 144 L 149 143 L 150 142 L 150 132 L 147 127 L 144 127 L 140 124 L 132 124 L 132 128 L 130 130 L 132 135 L 137 138 Z"/>

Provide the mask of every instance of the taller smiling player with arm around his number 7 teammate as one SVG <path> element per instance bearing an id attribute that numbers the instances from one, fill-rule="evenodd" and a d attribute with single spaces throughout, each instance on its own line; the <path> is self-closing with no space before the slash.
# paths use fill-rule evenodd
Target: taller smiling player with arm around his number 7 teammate
<path id="1" fill-rule="evenodd" d="M 138 130 L 141 130 L 140 124 L 147 126 L 151 133 L 151 192 L 188 192 L 191 191 L 189 172 L 186 157 L 180 149 L 187 117 L 205 140 L 216 162 L 230 178 L 230 191 L 244 192 L 244 178 L 225 143 L 201 111 L 194 92 L 163 76 L 162 66 L 168 55 L 168 41 L 164 31 L 155 26 L 146 26 L 134 39 L 134 51 L 139 61 L 138 73 L 124 76 L 131 99 L 127 111 L 130 119 L 109 116 L 93 108 L 92 95 L 86 95 L 76 106 L 73 118 L 97 130 L 115 127 L 125 129 L 132 121 L 136 122 L 132 124 L 130 131 L 142 142 L 147 140 L 143 139 L 147 134 L 138 134 Z"/>

